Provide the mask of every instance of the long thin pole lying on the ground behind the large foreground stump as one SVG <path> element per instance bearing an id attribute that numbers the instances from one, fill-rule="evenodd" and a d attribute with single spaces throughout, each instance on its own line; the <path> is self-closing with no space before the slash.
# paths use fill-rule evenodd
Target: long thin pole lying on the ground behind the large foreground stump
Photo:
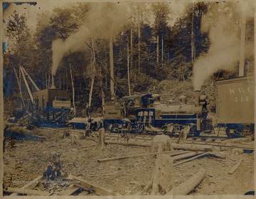
<path id="1" fill-rule="evenodd" d="M 175 155 L 179 155 L 179 154 L 186 154 L 188 152 L 189 151 L 162 151 L 162 152 L 149 153 L 149 154 L 137 154 L 134 156 L 120 156 L 120 157 L 115 157 L 115 158 L 97 159 L 97 162 L 116 161 L 116 160 L 121 160 L 121 159 L 126 159 L 126 158 L 137 158 L 137 157 L 151 156 L 151 155 L 156 155 L 156 154 L 171 154 L 171 156 L 175 156 Z"/>

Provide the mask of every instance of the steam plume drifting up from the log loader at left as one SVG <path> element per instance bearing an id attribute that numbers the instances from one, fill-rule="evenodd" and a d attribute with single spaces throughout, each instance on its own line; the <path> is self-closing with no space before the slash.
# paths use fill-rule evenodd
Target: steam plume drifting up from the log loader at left
<path id="1" fill-rule="evenodd" d="M 57 39 L 53 41 L 53 67 L 52 75 L 57 72 L 63 56 L 70 52 L 78 51 L 90 41 L 90 38 L 109 38 L 121 30 L 127 21 L 127 6 L 117 3 L 90 4 L 90 11 L 82 26 L 76 33 L 70 35 L 65 41 Z"/>

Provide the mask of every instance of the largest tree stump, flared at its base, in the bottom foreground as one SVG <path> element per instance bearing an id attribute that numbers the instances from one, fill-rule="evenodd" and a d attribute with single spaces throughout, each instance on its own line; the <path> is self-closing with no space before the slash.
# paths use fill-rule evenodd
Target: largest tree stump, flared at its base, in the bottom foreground
<path id="1" fill-rule="evenodd" d="M 156 156 L 151 181 L 142 194 L 165 195 L 174 187 L 174 160 L 166 154 Z"/>

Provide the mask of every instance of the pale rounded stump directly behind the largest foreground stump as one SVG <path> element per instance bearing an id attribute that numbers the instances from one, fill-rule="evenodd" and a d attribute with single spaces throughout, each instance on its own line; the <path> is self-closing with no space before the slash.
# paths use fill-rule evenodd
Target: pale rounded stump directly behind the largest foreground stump
<path id="1" fill-rule="evenodd" d="M 150 151 L 154 152 L 162 152 L 162 151 L 171 151 L 171 138 L 166 135 L 158 135 L 154 136 L 154 139 L 151 143 Z"/>

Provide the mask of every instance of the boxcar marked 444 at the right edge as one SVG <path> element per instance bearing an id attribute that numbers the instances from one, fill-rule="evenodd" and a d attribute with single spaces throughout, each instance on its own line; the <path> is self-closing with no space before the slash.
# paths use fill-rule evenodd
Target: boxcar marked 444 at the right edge
<path id="1" fill-rule="evenodd" d="M 255 131 L 255 80 L 253 76 L 219 80 L 217 124 L 229 137 L 253 136 Z"/>

